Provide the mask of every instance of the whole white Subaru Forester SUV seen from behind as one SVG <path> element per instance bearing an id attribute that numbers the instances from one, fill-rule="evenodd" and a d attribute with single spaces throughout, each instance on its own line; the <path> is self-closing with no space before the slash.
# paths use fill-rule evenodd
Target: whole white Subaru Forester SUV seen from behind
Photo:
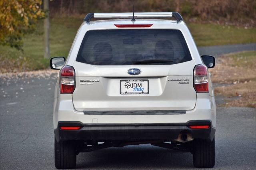
<path id="1" fill-rule="evenodd" d="M 176 20 L 138 18 L 174 17 Z M 92 18 L 128 18 L 90 21 Z M 56 168 L 111 146 L 152 144 L 213 167 L 216 105 L 208 68 L 177 12 L 90 13 L 60 69 L 54 95 Z"/>

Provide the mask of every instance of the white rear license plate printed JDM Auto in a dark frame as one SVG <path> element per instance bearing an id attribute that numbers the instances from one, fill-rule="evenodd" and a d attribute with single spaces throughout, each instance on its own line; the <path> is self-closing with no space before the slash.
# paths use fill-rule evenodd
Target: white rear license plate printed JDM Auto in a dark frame
<path id="1" fill-rule="evenodd" d="M 146 95 L 148 93 L 148 80 L 120 80 L 121 95 Z"/>

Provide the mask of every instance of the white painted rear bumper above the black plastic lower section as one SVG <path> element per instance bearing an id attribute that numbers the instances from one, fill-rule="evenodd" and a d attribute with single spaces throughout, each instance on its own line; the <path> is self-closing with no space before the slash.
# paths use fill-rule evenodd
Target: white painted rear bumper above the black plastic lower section
<path id="1" fill-rule="evenodd" d="M 182 101 L 180 101 L 182 102 Z M 162 108 L 164 109 L 164 108 Z M 124 109 L 122 109 L 124 110 Z M 54 129 L 58 128 L 59 122 L 80 122 L 84 125 L 128 125 L 128 124 L 150 124 L 150 125 L 173 125 L 185 124 L 194 120 L 211 120 L 212 127 L 216 127 L 216 107 L 214 97 L 208 93 L 198 93 L 196 106 L 185 113 L 166 113 L 167 111 L 76 111 L 72 102 L 72 95 L 61 95 L 54 99 L 53 125 Z M 113 113 L 113 114 L 112 114 Z"/>

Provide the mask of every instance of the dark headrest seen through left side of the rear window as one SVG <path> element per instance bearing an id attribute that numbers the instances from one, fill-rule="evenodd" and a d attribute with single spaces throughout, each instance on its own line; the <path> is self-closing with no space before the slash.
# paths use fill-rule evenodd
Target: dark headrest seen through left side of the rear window
<path id="1" fill-rule="evenodd" d="M 96 43 L 93 47 L 93 54 L 96 60 L 109 61 L 112 60 L 112 46 L 109 43 Z"/>

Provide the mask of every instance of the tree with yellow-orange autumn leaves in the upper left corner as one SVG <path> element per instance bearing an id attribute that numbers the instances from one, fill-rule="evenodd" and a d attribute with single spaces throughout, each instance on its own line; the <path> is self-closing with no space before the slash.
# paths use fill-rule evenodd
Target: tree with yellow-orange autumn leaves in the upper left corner
<path id="1" fill-rule="evenodd" d="M 42 0 L 0 0 L 0 45 L 22 50 L 22 36 L 35 30 L 35 22 L 44 18 Z"/>

